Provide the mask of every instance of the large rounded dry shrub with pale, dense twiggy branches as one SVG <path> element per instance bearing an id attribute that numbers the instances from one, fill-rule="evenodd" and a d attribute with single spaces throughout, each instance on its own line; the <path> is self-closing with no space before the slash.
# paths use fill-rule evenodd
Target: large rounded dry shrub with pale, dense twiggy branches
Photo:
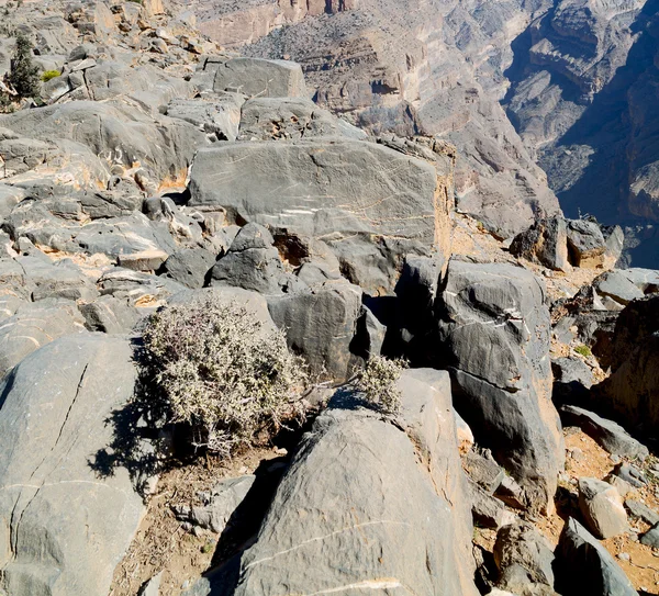
<path id="1" fill-rule="evenodd" d="M 150 409 L 191 426 L 196 446 L 227 456 L 300 416 L 306 369 L 271 329 L 210 295 L 169 305 L 144 331 Z"/>

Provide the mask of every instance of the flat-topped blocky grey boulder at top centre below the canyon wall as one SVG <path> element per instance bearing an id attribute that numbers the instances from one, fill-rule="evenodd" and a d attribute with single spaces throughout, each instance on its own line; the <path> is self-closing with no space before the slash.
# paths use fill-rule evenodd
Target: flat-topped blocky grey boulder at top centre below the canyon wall
<path id="1" fill-rule="evenodd" d="M 213 90 L 237 91 L 259 98 L 306 97 L 299 64 L 260 58 L 233 58 L 217 65 Z"/>

